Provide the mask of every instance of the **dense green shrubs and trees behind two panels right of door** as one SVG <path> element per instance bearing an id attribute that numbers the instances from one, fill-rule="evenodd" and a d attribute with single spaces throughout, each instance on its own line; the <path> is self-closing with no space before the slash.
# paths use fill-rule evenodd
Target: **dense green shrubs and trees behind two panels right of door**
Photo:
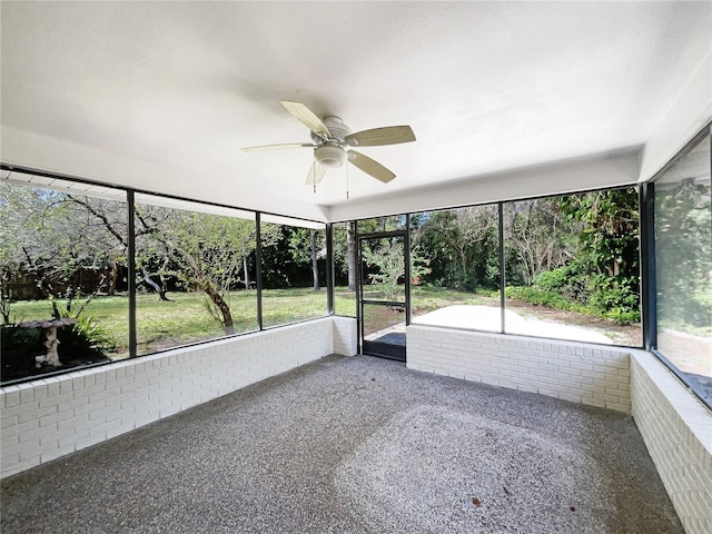
<path id="1" fill-rule="evenodd" d="M 505 204 L 507 298 L 640 322 L 637 192 L 633 188 Z M 500 286 L 496 206 L 412 218 L 418 285 L 492 291 Z"/>

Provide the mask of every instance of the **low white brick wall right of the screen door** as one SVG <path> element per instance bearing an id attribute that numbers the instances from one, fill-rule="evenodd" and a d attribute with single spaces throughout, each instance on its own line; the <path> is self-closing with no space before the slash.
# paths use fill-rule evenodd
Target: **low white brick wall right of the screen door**
<path id="1" fill-rule="evenodd" d="M 407 327 L 407 366 L 630 413 L 630 350 L 432 326 Z"/>

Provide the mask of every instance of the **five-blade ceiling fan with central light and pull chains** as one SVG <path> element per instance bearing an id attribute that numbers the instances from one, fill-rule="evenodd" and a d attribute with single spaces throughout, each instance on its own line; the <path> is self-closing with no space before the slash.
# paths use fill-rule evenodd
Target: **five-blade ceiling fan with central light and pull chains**
<path id="1" fill-rule="evenodd" d="M 409 126 L 386 126 L 352 134 L 348 126 L 338 117 L 319 119 L 314 111 L 304 103 L 280 100 L 287 111 L 312 130 L 312 142 L 289 142 L 281 145 L 264 145 L 246 147 L 244 151 L 277 150 L 280 148 L 314 149 L 314 165 L 307 175 L 307 185 L 317 185 L 329 168 L 340 167 L 346 161 L 355 165 L 367 175 L 387 184 L 396 175 L 386 169 L 378 161 L 354 150 L 355 147 L 377 147 L 383 145 L 398 145 L 415 141 L 415 134 Z"/>

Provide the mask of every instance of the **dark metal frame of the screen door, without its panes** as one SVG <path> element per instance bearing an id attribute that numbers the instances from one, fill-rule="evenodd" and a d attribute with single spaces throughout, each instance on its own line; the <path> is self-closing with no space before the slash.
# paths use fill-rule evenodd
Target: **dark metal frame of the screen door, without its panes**
<path id="1" fill-rule="evenodd" d="M 407 218 L 406 218 L 407 220 Z M 403 306 L 405 312 L 406 327 L 411 324 L 411 235 L 409 228 L 406 224 L 406 228 L 402 230 L 390 231 L 377 231 L 370 234 L 356 234 L 356 265 L 357 265 L 357 284 L 356 284 L 356 298 L 357 298 L 357 327 L 358 327 L 358 344 L 360 346 L 360 353 L 368 356 L 377 356 L 380 358 L 396 359 L 398 362 L 406 362 L 406 346 L 394 345 L 383 342 L 373 342 L 364 339 L 364 306 Z M 363 241 L 368 239 L 382 239 L 402 237 L 403 238 L 403 261 L 405 271 L 405 298 L 402 303 L 387 301 L 387 300 L 372 300 L 364 298 L 364 273 L 363 266 Z"/>

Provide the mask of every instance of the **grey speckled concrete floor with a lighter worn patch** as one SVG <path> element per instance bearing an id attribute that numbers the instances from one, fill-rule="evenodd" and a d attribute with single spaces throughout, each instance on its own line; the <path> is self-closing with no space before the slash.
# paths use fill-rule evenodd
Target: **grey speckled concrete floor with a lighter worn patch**
<path id="1" fill-rule="evenodd" d="M 10 533 L 682 533 L 630 416 L 330 356 L 2 482 Z"/>

